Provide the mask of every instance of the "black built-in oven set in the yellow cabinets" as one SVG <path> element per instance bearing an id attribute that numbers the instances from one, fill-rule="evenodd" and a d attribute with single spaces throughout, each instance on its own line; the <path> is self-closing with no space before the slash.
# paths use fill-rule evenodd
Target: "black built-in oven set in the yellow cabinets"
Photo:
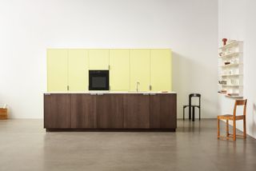
<path id="1" fill-rule="evenodd" d="M 109 70 L 89 70 L 89 90 L 109 90 Z"/>

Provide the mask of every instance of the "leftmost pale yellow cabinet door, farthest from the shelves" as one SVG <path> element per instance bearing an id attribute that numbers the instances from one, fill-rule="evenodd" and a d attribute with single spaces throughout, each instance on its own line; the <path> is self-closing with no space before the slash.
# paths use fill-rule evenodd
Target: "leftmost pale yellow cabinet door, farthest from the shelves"
<path id="1" fill-rule="evenodd" d="M 47 50 L 48 92 L 66 92 L 68 83 L 68 50 Z"/>

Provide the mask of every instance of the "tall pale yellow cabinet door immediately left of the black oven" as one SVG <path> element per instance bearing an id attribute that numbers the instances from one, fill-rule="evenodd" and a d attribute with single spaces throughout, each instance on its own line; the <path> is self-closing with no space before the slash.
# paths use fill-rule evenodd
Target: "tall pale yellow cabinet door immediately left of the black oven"
<path id="1" fill-rule="evenodd" d="M 69 50 L 68 85 L 72 92 L 88 90 L 88 50 Z"/>

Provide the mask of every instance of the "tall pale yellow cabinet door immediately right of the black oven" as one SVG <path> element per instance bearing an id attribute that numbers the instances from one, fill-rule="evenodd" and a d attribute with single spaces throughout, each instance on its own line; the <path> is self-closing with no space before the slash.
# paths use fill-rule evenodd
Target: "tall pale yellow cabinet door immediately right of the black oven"
<path id="1" fill-rule="evenodd" d="M 110 90 L 130 90 L 129 50 L 110 50 Z"/>

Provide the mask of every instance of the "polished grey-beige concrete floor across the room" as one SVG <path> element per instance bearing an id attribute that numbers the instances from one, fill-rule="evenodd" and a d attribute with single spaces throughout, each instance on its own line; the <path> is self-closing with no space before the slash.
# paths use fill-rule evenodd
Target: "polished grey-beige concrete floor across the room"
<path id="1" fill-rule="evenodd" d="M 1 171 L 256 170 L 256 140 L 218 140 L 213 119 L 179 120 L 176 133 L 46 133 L 42 125 L 0 121 Z"/>

